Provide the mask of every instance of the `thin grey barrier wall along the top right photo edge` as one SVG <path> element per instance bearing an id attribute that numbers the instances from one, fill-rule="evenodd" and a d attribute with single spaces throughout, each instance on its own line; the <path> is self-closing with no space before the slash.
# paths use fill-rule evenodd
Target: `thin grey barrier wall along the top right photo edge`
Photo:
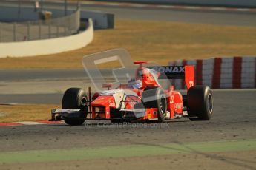
<path id="1" fill-rule="evenodd" d="M 105 1 L 105 0 L 98 0 Z M 255 0 L 112 0 L 118 2 L 136 2 L 150 4 L 192 4 L 192 5 L 214 5 L 227 7 L 256 7 Z"/>

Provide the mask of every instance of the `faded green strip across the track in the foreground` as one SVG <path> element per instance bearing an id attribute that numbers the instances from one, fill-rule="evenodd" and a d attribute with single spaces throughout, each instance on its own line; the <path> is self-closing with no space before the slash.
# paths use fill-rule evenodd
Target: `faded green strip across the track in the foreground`
<path id="1" fill-rule="evenodd" d="M 1 152 L 0 163 L 34 163 L 62 160 L 87 160 L 109 157 L 144 157 L 168 154 L 202 154 L 204 152 L 255 151 L 256 140 L 200 143 L 168 143 L 164 145 L 108 146 L 79 149 L 48 149 Z"/>

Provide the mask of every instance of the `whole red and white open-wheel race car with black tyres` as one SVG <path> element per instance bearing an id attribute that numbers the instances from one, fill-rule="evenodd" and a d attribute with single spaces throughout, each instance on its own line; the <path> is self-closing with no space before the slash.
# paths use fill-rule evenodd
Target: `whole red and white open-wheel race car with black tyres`
<path id="1" fill-rule="evenodd" d="M 194 85 L 194 66 L 145 67 L 138 64 L 134 80 L 108 88 L 88 96 L 84 89 L 67 89 L 62 99 L 62 109 L 53 109 L 51 120 L 64 120 L 69 125 L 81 125 L 85 120 L 111 120 L 122 122 L 157 122 L 188 117 L 190 120 L 209 120 L 213 112 L 213 96 L 209 86 Z M 180 78 L 185 81 L 187 94 L 182 95 L 169 85 L 164 89 L 158 79 L 161 70 L 168 79 Z"/>

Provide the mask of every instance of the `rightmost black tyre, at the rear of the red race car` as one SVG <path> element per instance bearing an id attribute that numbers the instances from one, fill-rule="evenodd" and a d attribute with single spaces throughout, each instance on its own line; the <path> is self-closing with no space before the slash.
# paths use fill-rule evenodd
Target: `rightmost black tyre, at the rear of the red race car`
<path id="1" fill-rule="evenodd" d="M 192 86 L 187 96 L 190 120 L 210 120 L 213 113 L 213 96 L 209 86 Z"/>

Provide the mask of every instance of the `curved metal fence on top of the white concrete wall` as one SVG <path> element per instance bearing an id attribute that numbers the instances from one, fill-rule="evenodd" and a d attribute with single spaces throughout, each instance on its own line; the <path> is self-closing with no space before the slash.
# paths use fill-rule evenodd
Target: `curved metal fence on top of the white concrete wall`
<path id="1" fill-rule="evenodd" d="M 58 38 L 78 33 L 80 10 L 69 16 L 37 21 L 0 22 L 0 42 Z"/>

